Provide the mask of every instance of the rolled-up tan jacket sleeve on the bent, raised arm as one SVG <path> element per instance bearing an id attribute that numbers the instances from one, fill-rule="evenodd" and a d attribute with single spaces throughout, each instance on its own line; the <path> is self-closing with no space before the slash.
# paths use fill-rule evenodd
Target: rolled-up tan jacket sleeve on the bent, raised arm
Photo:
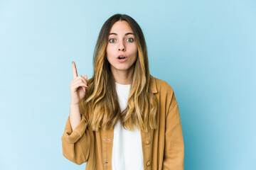
<path id="1" fill-rule="evenodd" d="M 87 130 L 87 124 L 85 116 L 82 115 L 82 120 L 72 131 L 70 117 L 68 116 L 65 130 L 61 137 L 63 156 L 75 164 L 87 162 L 89 156 L 92 132 Z"/>

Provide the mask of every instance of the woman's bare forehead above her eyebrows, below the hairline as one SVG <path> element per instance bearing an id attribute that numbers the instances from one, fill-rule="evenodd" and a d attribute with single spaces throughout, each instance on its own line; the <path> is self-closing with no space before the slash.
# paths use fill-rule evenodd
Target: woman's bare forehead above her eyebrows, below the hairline
<path id="1" fill-rule="evenodd" d="M 110 29 L 110 33 L 133 33 L 132 28 L 129 26 L 127 21 L 117 21 Z"/>

